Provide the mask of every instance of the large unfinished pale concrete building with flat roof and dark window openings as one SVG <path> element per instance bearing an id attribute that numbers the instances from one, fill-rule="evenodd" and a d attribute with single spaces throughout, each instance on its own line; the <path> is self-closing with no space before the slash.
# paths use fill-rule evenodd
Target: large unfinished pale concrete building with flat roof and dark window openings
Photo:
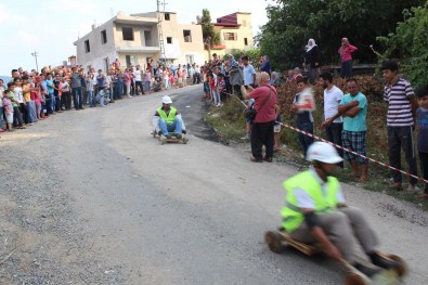
<path id="1" fill-rule="evenodd" d="M 163 12 L 161 30 L 167 61 L 176 64 L 203 64 L 205 60 L 202 26 L 183 25 L 177 14 Z M 157 12 L 116 16 L 74 42 L 77 62 L 88 68 L 104 72 L 119 59 L 121 67 L 141 65 L 161 57 Z"/>

